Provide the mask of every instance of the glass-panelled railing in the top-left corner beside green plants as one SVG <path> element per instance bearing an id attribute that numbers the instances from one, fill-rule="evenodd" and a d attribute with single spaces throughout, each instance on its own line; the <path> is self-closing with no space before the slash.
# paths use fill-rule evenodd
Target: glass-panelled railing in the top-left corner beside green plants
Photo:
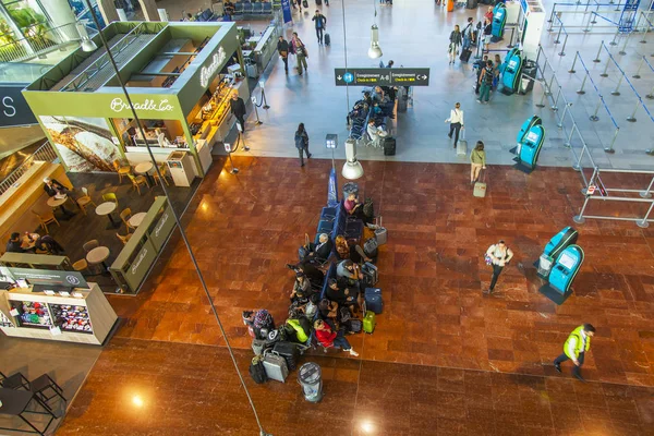
<path id="1" fill-rule="evenodd" d="M 0 46 L 0 62 L 22 62 L 57 50 L 65 44 L 78 41 L 75 23 L 52 27 L 34 36 Z"/>

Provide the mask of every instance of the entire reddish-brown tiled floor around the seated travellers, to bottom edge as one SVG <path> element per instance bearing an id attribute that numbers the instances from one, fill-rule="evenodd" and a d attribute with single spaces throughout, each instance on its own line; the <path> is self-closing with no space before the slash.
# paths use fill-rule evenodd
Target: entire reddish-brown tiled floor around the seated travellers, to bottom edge
<path id="1" fill-rule="evenodd" d="M 283 385 L 250 379 L 241 312 L 266 307 L 277 323 L 286 318 L 293 278 L 284 264 L 316 228 L 330 162 L 234 164 L 238 177 L 216 162 L 184 225 L 268 432 L 652 434 L 654 233 L 589 220 L 579 227 L 586 261 L 574 294 L 556 306 L 538 293 L 532 263 L 582 201 L 573 170 L 494 167 L 480 199 L 464 166 L 364 162 L 360 186 L 389 232 L 378 258 L 385 308 L 373 335 L 349 337 L 359 359 L 302 359 L 325 371 L 327 396 L 311 404 L 296 373 Z M 482 254 L 500 238 L 516 261 L 489 296 Z M 171 241 L 160 263 L 136 298 L 110 296 L 122 326 L 59 434 L 256 433 L 183 244 Z M 572 379 L 569 365 L 564 375 L 552 365 L 584 322 L 597 326 L 588 384 Z"/>

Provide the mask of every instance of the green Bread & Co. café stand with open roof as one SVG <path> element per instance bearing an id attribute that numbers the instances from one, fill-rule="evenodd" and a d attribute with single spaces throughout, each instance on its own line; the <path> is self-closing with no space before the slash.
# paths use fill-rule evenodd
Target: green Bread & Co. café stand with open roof
<path id="1" fill-rule="evenodd" d="M 235 119 L 229 100 L 250 98 L 234 23 L 117 22 L 104 31 L 142 123 L 133 119 L 99 37 L 23 90 L 66 171 L 114 171 L 114 160 L 158 162 L 189 154 L 204 177 L 211 148 Z"/>

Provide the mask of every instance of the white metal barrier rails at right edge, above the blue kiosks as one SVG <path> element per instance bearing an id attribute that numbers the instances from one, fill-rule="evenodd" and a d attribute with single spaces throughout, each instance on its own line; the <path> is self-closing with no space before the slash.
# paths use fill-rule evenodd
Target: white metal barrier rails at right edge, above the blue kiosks
<path id="1" fill-rule="evenodd" d="M 602 173 L 617 173 L 617 174 L 651 174 L 652 180 L 649 182 L 647 187 L 644 190 L 633 190 L 633 189 L 623 189 L 623 187 L 607 187 L 602 180 Z M 583 223 L 588 218 L 591 219 L 609 219 L 616 221 L 633 221 L 638 227 L 647 228 L 650 227 L 650 222 L 654 222 L 654 216 L 652 215 L 652 210 L 654 209 L 654 198 L 652 197 L 652 193 L 654 189 L 654 171 L 641 171 L 641 170 L 614 170 L 614 169 L 593 169 L 593 175 L 591 177 L 590 184 L 588 187 L 582 189 L 581 192 L 585 196 L 583 205 L 581 206 L 581 210 L 579 215 L 574 216 L 572 219 L 577 223 Z M 633 194 L 638 193 L 640 198 L 634 196 Z M 616 194 L 616 195 L 614 195 Z M 631 215 L 635 216 L 619 216 L 625 210 L 616 211 L 613 208 L 614 205 L 603 204 L 604 208 L 607 206 L 610 207 L 611 215 L 586 215 L 586 210 L 589 208 L 589 204 L 591 202 L 627 202 L 627 203 L 637 203 L 649 205 L 646 211 L 640 216 L 638 213 L 632 213 Z M 600 208 L 602 209 L 602 207 Z M 632 208 L 633 209 L 633 208 Z M 644 208 L 643 208 L 644 210 Z M 630 210 L 627 210 L 629 214 Z M 598 211 L 601 213 L 601 210 Z"/>

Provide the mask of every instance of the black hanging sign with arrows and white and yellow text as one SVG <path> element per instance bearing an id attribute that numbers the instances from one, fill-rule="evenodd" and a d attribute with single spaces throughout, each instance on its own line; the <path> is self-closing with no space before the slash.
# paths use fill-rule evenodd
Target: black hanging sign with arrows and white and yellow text
<path id="1" fill-rule="evenodd" d="M 336 86 L 429 86 L 429 69 L 334 69 Z"/>

